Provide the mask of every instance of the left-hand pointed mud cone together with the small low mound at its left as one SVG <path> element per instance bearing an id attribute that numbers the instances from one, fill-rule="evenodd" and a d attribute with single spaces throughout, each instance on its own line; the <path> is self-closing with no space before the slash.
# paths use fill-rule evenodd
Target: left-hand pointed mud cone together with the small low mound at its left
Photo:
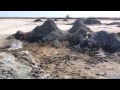
<path id="1" fill-rule="evenodd" d="M 68 35 L 67 31 L 60 30 L 53 20 L 48 19 L 41 26 L 37 26 L 33 31 L 24 33 L 18 31 L 16 34 L 8 37 L 8 39 L 18 39 L 28 42 L 53 42 L 64 41 Z"/>

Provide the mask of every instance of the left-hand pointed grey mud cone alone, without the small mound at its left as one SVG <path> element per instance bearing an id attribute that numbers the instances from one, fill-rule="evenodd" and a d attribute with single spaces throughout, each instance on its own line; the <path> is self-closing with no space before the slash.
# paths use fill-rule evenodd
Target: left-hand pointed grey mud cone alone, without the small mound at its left
<path id="1" fill-rule="evenodd" d="M 53 20 L 48 19 L 42 26 L 37 26 L 31 34 L 33 41 L 53 41 L 64 37 L 64 32 L 61 31 Z"/>

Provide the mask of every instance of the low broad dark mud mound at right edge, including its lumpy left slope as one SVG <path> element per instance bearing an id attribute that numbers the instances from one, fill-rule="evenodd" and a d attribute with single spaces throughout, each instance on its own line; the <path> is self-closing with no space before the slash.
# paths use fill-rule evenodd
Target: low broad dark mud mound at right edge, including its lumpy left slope
<path id="1" fill-rule="evenodd" d="M 120 50 L 120 37 L 116 33 L 100 31 L 84 40 L 81 46 L 96 49 L 102 48 L 106 52 L 114 53 Z"/>

